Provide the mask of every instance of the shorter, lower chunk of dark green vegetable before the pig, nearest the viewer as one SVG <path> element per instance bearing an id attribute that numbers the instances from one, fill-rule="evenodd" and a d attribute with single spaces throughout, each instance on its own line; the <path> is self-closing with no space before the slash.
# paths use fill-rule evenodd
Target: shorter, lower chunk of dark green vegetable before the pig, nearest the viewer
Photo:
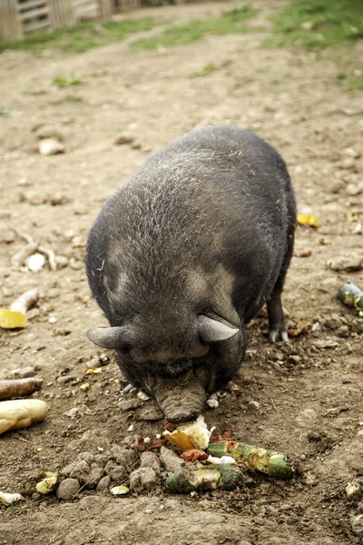
<path id="1" fill-rule="evenodd" d="M 185 494 L 192 491 L 233 490 L 245 480 L 238 466 L 223 463 L 220 466 L 185 467 L 175 471 L 166 481 L 170 492 Z"/>

